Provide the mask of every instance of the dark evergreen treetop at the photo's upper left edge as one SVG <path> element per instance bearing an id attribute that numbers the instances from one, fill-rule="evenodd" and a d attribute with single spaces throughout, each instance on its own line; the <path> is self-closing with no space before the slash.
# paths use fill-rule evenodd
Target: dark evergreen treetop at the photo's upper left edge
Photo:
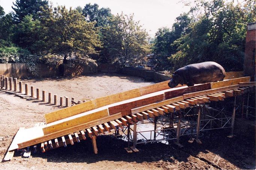
<path id="1" fill-rule="evenodd" d="M 16 0 L 13 4 L 14 17 L 21 22 L 26 15 L 32 15 L 33 19 L 38 19 L 42 8 L 48 6 L 48 0 Z"/>

